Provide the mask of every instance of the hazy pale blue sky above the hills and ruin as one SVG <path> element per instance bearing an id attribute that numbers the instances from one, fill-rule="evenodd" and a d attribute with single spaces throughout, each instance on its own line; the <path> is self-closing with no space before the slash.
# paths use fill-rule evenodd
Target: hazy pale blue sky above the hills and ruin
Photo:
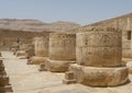
<path id="1" fill-rule="evenodd" d="M 0 18 L 89 24 L 131 13 L 132 0 L 0 0 Z"/>

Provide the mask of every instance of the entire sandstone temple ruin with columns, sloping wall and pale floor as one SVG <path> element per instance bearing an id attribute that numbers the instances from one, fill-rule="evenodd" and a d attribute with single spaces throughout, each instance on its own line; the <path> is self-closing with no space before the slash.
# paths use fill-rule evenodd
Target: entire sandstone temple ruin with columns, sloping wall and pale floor
<path id="1" fill-rule="evenodd" d="M 67 32 L 1 37 L 0 93 L 132 91 L 131 26 L 127 14 Z"/>

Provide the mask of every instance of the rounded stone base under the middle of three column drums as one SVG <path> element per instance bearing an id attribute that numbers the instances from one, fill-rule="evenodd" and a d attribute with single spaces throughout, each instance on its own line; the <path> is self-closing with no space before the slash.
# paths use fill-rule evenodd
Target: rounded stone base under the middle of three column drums
<path id="1" fill-rule="evenodd" d="M 45 69 L 52 72 L 65 72 L 68 71 L 68 67 L 72 63 L 75 63 L 75 61 L 46 59 Z"/>

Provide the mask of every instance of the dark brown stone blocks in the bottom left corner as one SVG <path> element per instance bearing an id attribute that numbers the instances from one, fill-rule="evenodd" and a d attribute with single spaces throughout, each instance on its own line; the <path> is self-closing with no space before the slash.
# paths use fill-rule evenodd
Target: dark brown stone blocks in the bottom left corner
<path id="1" fill-rule="evenodd" d="M 9 84 L 9 78 L 4 71 L 3 61 L 0 60 L 0 93 L 12 92 L 12 88 Z"/>

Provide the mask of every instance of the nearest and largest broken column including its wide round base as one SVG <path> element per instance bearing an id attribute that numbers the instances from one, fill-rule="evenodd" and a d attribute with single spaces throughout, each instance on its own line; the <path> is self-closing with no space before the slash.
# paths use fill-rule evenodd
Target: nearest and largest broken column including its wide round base
<path id="1" fill-rule="evenodd" d="M 128 68 L 122 66 L 121 38 L 121 31 L 110 27 L 92 27 L 86 33 L 77 33 L 77 63 L 69 67 L 76 82 L 91 86 L 124 84 Z M 70 81 L 65 79 L 64 83 Z"/>

